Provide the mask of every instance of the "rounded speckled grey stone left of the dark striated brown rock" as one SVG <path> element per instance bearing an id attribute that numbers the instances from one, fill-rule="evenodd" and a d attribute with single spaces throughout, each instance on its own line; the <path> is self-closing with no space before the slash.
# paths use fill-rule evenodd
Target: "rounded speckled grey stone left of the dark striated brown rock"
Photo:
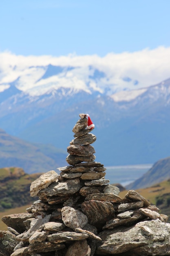
<path id="1" fill-rule="evenodd" d="M 81 211 L 65 206 L 62 208 L 62 221 L 64 225 L 74 230 L 83 228 L 87 224 L 88 218 Z"/>

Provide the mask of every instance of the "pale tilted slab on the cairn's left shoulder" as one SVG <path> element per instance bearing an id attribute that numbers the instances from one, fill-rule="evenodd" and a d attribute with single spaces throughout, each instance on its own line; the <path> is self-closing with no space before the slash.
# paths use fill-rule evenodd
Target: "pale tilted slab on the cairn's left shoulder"
<path id="1" fill-rule="evenodd" d="M 48 187 L 52 182 L 57 180 L 58 174 L 55 171 L 49 171 L 42 174 L 37 180 L 33 181 L 30 186 L 30 195 L 35 196 L 42 189 Z"/>

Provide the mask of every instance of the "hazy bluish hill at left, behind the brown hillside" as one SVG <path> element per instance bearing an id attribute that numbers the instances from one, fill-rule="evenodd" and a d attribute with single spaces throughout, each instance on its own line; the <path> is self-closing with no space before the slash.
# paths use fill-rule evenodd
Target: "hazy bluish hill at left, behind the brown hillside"
<path id="1" fill-rule="evenodd" d="M 32 144 L 0 129 L 0 167 L 19 166 L 26 173 L 46 172 L 66 165 L 67 155 L 55 146 Z"/>

